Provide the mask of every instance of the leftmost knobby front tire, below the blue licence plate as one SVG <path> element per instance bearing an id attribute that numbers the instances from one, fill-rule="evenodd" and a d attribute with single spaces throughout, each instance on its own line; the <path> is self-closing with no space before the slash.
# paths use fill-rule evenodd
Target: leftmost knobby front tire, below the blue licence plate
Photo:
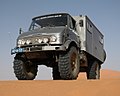
<path id="1" fill-rule="evenodd" d="M 37 75 L 37 65 L 21 59 L 14 60 L 14 73 L 18 80 L 33 80 Z"/>

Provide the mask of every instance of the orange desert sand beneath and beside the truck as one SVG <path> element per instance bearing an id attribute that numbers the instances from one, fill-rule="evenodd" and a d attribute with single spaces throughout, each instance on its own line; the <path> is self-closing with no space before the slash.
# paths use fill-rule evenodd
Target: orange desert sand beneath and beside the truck
<path id="1" fill-rule="evenodd" d="M 120 72 L 102 70 L 100 80 L 0 81 L 0 96 L 120 96 Z"/>

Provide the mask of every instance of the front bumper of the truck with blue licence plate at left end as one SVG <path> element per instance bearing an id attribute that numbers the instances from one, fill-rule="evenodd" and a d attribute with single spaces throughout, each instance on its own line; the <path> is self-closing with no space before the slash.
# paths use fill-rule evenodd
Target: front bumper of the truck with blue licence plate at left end
<path id="1" fill-rule="evenodd" d="M 65 46 L 37 46 L 37 47 L 25 47 L 14 48 L 11 50 L 11 55 L 24 52 L 37 52 L 37 51 L 66 51 Z"/>

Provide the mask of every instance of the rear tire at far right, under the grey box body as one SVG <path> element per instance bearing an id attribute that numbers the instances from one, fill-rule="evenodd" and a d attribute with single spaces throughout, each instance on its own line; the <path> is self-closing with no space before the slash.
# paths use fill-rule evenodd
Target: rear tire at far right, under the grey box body
<path id="1" fill-rule="evenodd" d="M 89 65 L 87 79 L 100 79 L 100 64 L 97 61 Z"/>

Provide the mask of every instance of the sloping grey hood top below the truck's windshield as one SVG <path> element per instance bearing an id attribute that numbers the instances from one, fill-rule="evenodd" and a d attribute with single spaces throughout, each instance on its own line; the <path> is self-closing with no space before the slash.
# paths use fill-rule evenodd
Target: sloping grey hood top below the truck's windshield
<path id="1" fill-rule="evenodd" d="M 66 29 L 66 27 L 46 27 L 28 31 L 19 35 L 19 38 L 32 37 L 32 36 L 41 36 L 41 35 L 52 35 L 55 33 L 61 33 Z"/>

